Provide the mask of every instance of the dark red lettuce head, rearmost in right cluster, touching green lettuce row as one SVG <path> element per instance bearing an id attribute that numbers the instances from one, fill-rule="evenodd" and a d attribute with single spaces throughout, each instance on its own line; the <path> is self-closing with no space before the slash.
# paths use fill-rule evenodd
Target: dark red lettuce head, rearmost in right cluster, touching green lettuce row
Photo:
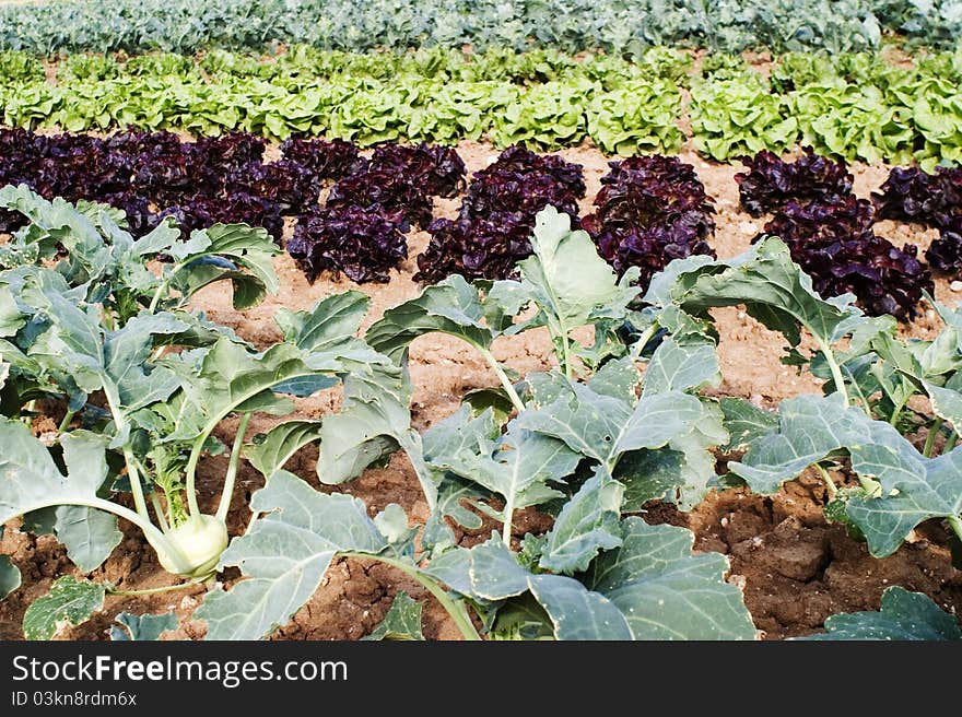
<path id="1" fill-rule="evenodd" d="M 735 175 L 741 207 L 752 216 L 775 211 L 788 201 L 843 197 L 852 192 L 852 173 L 805 148 L 795 162 L 783 162 L 776 154 L 762 150 L 754 157 L 742 157 L 749 171 Z"/>

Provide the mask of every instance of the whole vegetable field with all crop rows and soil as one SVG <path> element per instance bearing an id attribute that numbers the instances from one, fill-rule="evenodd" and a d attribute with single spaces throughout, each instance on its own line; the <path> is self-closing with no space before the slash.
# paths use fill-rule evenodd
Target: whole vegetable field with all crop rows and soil
<path id="1" fill-rule="evenodd" d="M 0 5 L 0 638 L 962 638 L 962 8 L 755 4 Z"/>

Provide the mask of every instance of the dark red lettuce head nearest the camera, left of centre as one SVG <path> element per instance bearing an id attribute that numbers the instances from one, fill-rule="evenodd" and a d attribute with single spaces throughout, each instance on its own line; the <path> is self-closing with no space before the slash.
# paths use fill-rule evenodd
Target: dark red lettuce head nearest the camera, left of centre
<path id="1" fill-rule="evenodd" d="M 408 256 L 408 244 L 377 205 L 328 207 L 298 218 L 288 252 L 312 282 L 335 271 L 359 284 L 384 283 Z"/>

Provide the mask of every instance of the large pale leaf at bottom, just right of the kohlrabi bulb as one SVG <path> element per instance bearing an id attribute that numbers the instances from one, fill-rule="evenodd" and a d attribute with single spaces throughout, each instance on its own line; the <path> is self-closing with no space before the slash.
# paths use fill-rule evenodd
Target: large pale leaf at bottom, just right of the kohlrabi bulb
<path id="1" fill-rule="evenodd" d="M 357 498 L 315 491 L 278 471 L 251 498 L 258 518 L 235 538 L 220 567 L 236 565 L 245 579 L 204 596 L 195 616 L 207 639 L 259 639 L 285 624 L 320 586 L 337 553 L 378 554 L 388 543 Z"/>

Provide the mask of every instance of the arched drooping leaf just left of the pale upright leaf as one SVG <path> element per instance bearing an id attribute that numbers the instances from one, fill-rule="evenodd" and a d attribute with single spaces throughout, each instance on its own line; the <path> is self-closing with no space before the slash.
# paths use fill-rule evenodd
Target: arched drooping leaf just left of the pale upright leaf
<path id="1" fill-rule="evenodd" d="M 500 331 L 489 328 L 478 289 L 458 274 L 427 286 L 418 298 L 389 308 L 364 336 L 375 350 L 401 363 L 411 342 L 432 332 L 447 333 L 488 350 Z"/>

